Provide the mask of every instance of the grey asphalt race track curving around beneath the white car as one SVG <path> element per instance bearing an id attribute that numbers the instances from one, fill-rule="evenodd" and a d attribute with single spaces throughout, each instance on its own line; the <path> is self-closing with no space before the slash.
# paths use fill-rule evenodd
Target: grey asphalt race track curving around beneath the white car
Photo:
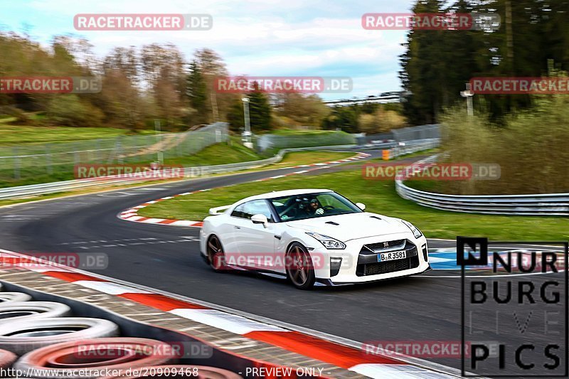
<path id="1" fill-rule="evenodd" d="M 378 152 L 373 156 L 378 156 Z M 17 252 L 104 252 L 109 265 L 94 271 L 97 274 L 353 341 L 460 341 L 460 272 L 452 269 L 452 262 L 444 266 L 450 262 L 452 241 L 430 241 L 431 250 L 448 247 L 451 253 L 432 255 L 437 257 L 433 265 L 441 265 L 442 269 L 423 276 L 301 292 L 282 279 L 250 273 L 215 274 L 199 256 L 198 228 L 148 225 L 117 218 L 125 208 L 156 198 L 298 170 L 203 178 L 0 208 L 0 248 Z M 307 180 L 307 187 L 318 186 Z M 551 276 L 531 278 L 539 283 Z M 480 317 L 487 317 L 492 324 L 494 310 Z M 516 346 L 527 338 L 546 341 L 546 336 L 538 331 L 511 333 L 504 338 Z M 460 367 L 457 358 L 433 361 Z M 507 361 L 512 364 L 513 359 Z"/>

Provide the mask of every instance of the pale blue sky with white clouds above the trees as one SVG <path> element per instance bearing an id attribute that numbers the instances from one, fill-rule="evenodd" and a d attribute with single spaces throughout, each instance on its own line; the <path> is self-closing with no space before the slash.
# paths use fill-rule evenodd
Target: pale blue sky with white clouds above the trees
<path id="1" fill-rule="evenodd" d="M 48 46 L 55 35 L 87 38 L 104 56 L 117 46 L 174 43 L 191 58 L 212 48 L 230 75 L 339 76 L 350 93 L 324 100 L 400 90 L 405 31 L 369 31 L 366 13 L 409 12 L 413 0 L 0 0 L 0 30 L 26 31 Z M 209 31 L 76 31 L 75 14 L 211 14 Z"/>

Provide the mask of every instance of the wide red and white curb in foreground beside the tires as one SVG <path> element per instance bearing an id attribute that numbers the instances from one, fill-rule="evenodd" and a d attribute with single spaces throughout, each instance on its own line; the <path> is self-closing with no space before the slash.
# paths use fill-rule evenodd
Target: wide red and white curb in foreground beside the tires
<path id="1" fill-rule="evenodd" d="M 427 368 L 422 368 L 392 356 L 366 354 L 361 348 L 346 346 L 318 336 L 302 333 L 301 331 L 294 331 L 276 324 L 270 324 L 269 322 L 260 322 L 238 314 L 231 314 L 228 311 L 214 309 L 212 307 L 213 304 L 205 305 L 206 303 L 203 303 L 203 301 L 175 299 L 174 297 L 160 294 L 157 290 L 138 286 L 137 284 L 84 272 L 73 267 L 57 265 L 18 252 L 0 249 L 0 262 L 3 266 L 6 265 L 8 267 L 18 267 L 18 262 L 21 262 L 19 267 L 24 269 L 41 272 L 43 275 L 78 284 L 103 294 L 129 299 L 200 324 L 235 333 L 245 338 L 269 343 L 287 351 L 331 363 L 370 378 L 439 379 L 457 378 L 458 376 L 454 375 L 454 373 L 445 373 L 445 370 L 440 368 L 446 368 L 446 366 L 437 365 L 436 363 L 422 361 L 427 366 Z M 37 262 L 37 264 L 30 265 L 31 262 Z M 428 365 L 437 366 L 438 369 L 429 369 Z M 450 368 L 447 369 L 452 370 Z"/>

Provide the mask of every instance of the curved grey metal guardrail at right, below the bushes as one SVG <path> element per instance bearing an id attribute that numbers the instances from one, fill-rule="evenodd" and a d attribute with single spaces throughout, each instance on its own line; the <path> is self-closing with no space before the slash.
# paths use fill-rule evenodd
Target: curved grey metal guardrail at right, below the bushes
<path id="1" fill-rule="evenodd" d="M 430 163 L 437 156 L 419 161 Z M 420 191 L 395 180 L 395 191 L 407 200 L 429 208 L 462 213 L 491 215 L 569 215 L 569 193 L 546 193 L 536 195 L 447 195 Z"/>

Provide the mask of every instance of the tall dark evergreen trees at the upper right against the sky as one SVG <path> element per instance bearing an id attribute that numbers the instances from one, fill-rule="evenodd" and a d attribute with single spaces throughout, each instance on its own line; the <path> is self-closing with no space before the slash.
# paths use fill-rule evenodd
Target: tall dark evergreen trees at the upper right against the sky
<path id="1" fill-rule="evenodd" d="M 495 30 L 413 29 L 401 55 L 404 112 L 410 124 L 438 121 L 456 102 L 464 83 L 481 77 L 539 77 L 569 67 L 569 1 L 457 0 L 444 8 L 438 0 L 418 0 L 415 13 L 498 14 Z M 511 112 L 532 107 L 530 95 L 477 95 L 474 105 L 493 122 L 505 124 Z"/>

